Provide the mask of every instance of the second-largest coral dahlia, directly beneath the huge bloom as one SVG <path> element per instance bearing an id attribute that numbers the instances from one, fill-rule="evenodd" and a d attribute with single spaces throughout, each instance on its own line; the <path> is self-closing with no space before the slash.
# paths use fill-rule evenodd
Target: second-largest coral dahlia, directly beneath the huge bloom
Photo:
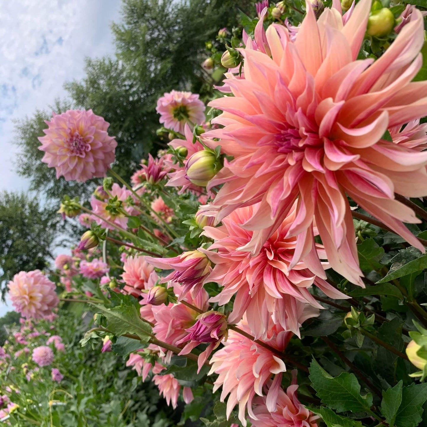
<path id="1" fill-rule="evenodd" d="M 266 333 L 270 319 L 299 335 L 298 319 L 301 319 L 301 309 L 304 308 L 301 303 L 323 308 L 309 292 L 312 285 L 330 298 L 348 297 L 324 280 L 323 268 L 328 265 L 319 261 L 319 257 L 326 258 L 322 245 L 313 244 L 301 261 L 291 265 L 295 258 L 299 260 L 301 257 L 297 238 L 286 237 L 295 221 L 295 208 L 257 255 L 251 257 L 249 252 L 239 250 L 252 238 L 253 231 L 245 230 L 242 225 L 257 208 L 258 205 L 239 208 L 222 219 L 220 227 L 205 227 L 203 234 L 211 237 L 214 243 L 209 250 L 201 250 L 215 263 L 207 280 L 224 287 L 211 301 L 224 305 L 236 295 L 228 322 L 239 322 L 246 312 L 255 338 Z M 313 235 L 313 231 L 310 234 Z M 316 316 L 316 310 L 312 310 L 311 315 Z"/>

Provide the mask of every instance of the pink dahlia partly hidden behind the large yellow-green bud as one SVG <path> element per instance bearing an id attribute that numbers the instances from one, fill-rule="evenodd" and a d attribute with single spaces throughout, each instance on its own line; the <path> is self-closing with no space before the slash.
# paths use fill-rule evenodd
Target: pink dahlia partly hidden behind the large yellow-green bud
<path id="1" fill-rule="evenodd" d="M 193 190 L 196 193 L 203 193 L 205 189 L 203 187 L 198 187 L 190 182 L 187 178 L 187 172 L 185 167 L 187 165 L 188 159 L 198 151 L 203 151 L 205 147 L 198 141 L 193 144 L 193 132 L 190 129 L 190 126 L 187 124 L 184 127 L 184 136 L 185 139 L 173 139 L 170 141 L 169 145 L 174 149 L 178 147 L 184 147 L 187 150 L 187 155 L 185 156 L 185 160 L 183 163 L 173 163 L 172 160 L 167 161 L 167 165 L 170 168 L 170 172 L 168 173 L 169 181 L 167 181 L 167 187 L 181 187 L 178 191 L 178 194 L 184 193 L 186 190 Z"/>

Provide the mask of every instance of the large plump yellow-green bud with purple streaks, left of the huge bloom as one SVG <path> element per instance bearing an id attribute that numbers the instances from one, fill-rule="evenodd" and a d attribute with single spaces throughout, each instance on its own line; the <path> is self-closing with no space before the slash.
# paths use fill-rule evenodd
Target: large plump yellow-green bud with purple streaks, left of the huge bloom
<path id="1" fill-rule="evenodd" d="M 186 178 L 200 187 L 205 187 L 219 169 L 215 153 L 208 150 L 195 152 L 185 165 Z"/>

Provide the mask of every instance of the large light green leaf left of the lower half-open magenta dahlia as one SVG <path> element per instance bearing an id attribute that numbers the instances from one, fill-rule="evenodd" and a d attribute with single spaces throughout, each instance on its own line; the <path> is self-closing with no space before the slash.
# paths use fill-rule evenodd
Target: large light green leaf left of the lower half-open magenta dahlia
<path id="1" fill-rule="evenodd" d="M 132 305 L 120 305 L 106 308 L 100 304 L 91 304 L 98 313 L 103 314 L 108 323 L 108 329 L 116 335 L 125 333 L 136 334 L 142 342 L 148 342 L 152 329 L 150 325 L 143 322 L 137 308 Z"/>

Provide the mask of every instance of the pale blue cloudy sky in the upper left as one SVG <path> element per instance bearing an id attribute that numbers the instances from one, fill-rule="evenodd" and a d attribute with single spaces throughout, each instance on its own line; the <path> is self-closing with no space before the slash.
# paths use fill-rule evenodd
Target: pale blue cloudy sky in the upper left
<path id="1" fill-rule="evenodd" d="M 0 1 L 0 190 L 26 190 L 14 170 L 13 120 L 65 97 L 85 57 L 114 53 L 120 0 Z M 10 307 L 0 303 L 0 316 Z"/>

